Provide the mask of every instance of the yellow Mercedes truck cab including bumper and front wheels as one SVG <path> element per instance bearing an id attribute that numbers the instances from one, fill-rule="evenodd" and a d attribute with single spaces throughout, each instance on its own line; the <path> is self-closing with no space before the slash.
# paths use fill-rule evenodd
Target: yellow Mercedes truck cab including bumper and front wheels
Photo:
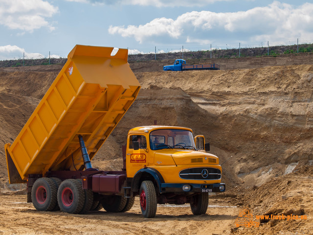
<path id="1" fill-rule="evenodd" d="M 144 214 L 149 206 L 155 214 L 156 203 L 190 203 L 194 214 L 206 212 L 208 192 L 223 192 L 225 185 L 221 184 L 219 159 L 206 153 L 205 145 L 209 147 L 203 136 L 194 138 L 192 130 L 185 127 L 141 126 L 129 131 L 126 149 L 128 193 L 140 196 Z M 147 194 L 149 187 L 156 195 Z"/>

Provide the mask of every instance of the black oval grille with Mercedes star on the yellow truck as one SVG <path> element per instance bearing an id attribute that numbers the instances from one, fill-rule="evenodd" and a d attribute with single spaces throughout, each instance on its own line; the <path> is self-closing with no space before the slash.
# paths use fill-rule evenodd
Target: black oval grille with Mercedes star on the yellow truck
<path id="1" fill-rule="evenodd" d="M 212 167 L 188 168 L 179 172 L 179 177 L 184 180 L 219 180 L 221 176 L 221 170 Z"/>

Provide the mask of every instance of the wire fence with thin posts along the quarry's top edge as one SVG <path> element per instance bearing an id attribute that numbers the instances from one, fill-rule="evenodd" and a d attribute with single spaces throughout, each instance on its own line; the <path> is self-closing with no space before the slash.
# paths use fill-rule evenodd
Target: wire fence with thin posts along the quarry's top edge
<path id="1" fill-rule="evenodd" d="M 293 39 L 289 41 L 261 41 L 231 44 L 210 45 L 174 45 L 136 47 L 129 49 L 130 61 L 162 60 L 183 58 L 240 58 L 246 56 L 266 56 L 300 52 L 313 52 L 313 39 Z M 39 64 L 65 63 L 68 51 L 22 52 L 1 53 L 0 67 L 33 65 L 29 60 L 40 60 Z M 6 63 L 15 60 L 16 63 Z M 25 65 L 25 61 L 27 61 Z M 35 63 L 38 65 L 38 63 Z"/>

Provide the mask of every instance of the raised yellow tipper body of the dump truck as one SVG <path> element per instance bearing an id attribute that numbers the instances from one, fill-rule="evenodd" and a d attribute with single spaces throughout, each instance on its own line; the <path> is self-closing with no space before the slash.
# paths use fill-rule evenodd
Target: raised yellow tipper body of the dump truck
<path id="1" fill-rule="evenodd" d="M 134 102 L 140 84 L 128 50 L 76 45 L 15 141 L 5 145 L 11 184 L 48 170 L 83 169 L 78 136 L 90 159 Z M 74 164 L 73 164 L 74 163 Z"/>

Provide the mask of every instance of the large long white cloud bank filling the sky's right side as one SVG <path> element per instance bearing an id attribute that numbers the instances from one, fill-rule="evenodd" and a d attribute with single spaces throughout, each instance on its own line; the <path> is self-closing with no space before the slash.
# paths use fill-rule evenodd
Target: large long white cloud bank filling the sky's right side
<path id="1" fill-rule="evenodd" d="M 122 37 L 133 37 L 139 43 L 177 40 L 207 45 L 313 38 L 313 3 L 295 8 L 274 1 L 266 7 L 234 13 L 193 11 L 180 15 L 176 20 L 157 18 L 138 26 L 111 25 L 108 31 Z"/>

